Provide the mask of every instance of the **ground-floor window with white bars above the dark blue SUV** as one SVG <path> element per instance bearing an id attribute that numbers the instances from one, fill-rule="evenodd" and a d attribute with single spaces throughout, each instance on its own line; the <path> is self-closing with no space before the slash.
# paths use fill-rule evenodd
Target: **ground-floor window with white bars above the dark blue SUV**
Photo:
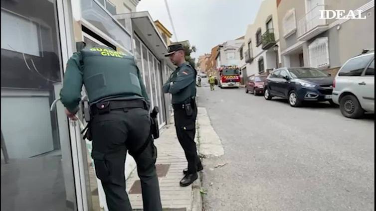
<path id="1" fill-rule="evenodd" d="M 308 46 L 309 62 L 311 67 L 329 67 L 328 37 L 315 39 Z"/>

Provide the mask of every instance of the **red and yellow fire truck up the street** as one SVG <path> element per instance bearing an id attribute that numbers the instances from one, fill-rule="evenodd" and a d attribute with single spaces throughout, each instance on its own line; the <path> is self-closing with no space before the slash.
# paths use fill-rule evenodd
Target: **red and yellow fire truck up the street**
<path id="1" fill-rule="evenodd" d="M 217 69 L 218 87 L 240 87 L 240 69 L 237 66 L 221 66 Z"/>

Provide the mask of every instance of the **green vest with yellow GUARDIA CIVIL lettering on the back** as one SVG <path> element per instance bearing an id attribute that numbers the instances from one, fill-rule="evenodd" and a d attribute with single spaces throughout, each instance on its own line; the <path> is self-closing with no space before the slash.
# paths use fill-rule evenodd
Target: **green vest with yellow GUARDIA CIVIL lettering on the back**
<path id="1" fill-rule="evenodd" d="M 138 68 L 132 56 L 107 46 L 85 48 L 81 53 L 83 84 L 90 102 L 112 96 L 142 97 Z"/>

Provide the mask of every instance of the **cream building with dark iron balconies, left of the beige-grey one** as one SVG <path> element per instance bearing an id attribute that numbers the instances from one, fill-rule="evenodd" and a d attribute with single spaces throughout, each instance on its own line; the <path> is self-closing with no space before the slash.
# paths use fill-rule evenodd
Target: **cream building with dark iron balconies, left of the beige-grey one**
<path id="1" fill-rule="evenodd" d="M 243 54 L 248 77 L 268 74 L 279 67 L 278 45 L 277 3 L 275 0 L 263 0 L 253 23 L 248 25 L 244 38 Z"/>

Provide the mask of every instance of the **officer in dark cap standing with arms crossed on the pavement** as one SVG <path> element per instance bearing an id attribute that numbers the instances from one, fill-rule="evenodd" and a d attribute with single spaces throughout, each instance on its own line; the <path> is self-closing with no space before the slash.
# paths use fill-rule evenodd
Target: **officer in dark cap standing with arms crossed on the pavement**
<path id="1" fill-rule="evenodd" d="M 186 62 L 182 44 L 170 45 L 166 56 L 169 56 L 171 62 L 178 66 L 163 85 L 163 92 L 172 94 L 176 133 L 188 161 L 188 169 L 183 170 L 185 176 L 180 181 L 180 185 L 184 187 L 193 183 L 197 179 L 197 171 L 202 170 L 194 142 L 197 117 L 195 104 L 197 73 Z"/>

